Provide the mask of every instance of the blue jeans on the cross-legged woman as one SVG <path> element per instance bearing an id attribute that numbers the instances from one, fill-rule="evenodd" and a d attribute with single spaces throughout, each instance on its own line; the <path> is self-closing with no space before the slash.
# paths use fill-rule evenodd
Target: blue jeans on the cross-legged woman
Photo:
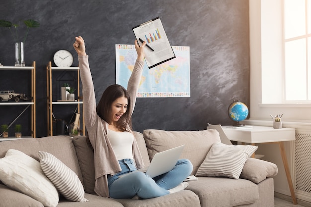
<path id="1" fill-rule="evenodd" d="M 108 175 L 111 198 L 126 199 L 138 195 L 142 199 L 155 198 L 169 194 L 168 189 L 182 183 L 192 172 L 193 166 L 188 159 L 179 159 L 171 171 L 151 178 L 143 172 L 133 172 L 119 178 L 119 175 L 136 170 L 132 159 L 119 160 L 122 171 L 114 176 Z"/>

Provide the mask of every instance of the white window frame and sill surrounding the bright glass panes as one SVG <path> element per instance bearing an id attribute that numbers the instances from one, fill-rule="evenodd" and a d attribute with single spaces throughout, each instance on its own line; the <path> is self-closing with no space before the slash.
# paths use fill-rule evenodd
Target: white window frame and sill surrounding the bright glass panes
<path id="1" fill-rule="evenodd" d="M 311 100 L 285 99 L 284 1 L 249 1 L 250 119 L 271 124 L 269 114 L 284 113 L 284 121 L 311 123 Z"/>

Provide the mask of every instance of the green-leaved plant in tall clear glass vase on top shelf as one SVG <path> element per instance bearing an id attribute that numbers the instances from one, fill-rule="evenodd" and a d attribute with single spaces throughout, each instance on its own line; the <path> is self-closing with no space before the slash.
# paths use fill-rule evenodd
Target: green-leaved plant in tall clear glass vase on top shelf
<path id="1" fill-rule="evenodd" d="M 14 41 L 15 41 L 15 66 L 25 66 L 24 43 L 26 41 L 29 29 L 40 26 L 39 22 L 37 22 L 33 19 L 28 19 L 28 20 L 25 20 L 23 22 L 27 26 L 27 30 L 26 30 L 25 35 L 23 36 L 23 39 L 20 40 L 19 35 L 18 35 L 19 24 L 12 24 L 12 22 L 10 22 L 10 21 L 0 19 L 0 27 L 8 28 L 10 30 L 12 36 L 13 36 Z M 15 32 L 13 32 L 11 30 L 12 26 L 15 28 Z"/>

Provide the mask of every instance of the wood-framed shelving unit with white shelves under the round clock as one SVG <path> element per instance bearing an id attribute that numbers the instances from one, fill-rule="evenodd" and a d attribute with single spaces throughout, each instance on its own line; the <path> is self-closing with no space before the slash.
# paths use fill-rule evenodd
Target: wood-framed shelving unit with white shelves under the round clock
<path id="1" fill-rule="evenodd" d="M 52 71 L 70 71 L 77 72 L 77 101 L 55 101 L 52 100 Z M 83 104 L 83 97 L 80 96 L 80 68 L 79 67 L 53 67 L 52 62 L 50 61 L 46 67 L 46 78 L 47 78 L 47 124 L 48 124 L 48 136 L 53 136 L 53 105 L 64 105 L 64 104 L 77 104 L 77 113 L 81 114 L 81 104 Z M 84 116 L 81 115 L 80 119 L 82 119 L 82 126 L 79 129 L 83 135 L 85 135 L 85 124 L 84 124 Z M 70 124 L 70 123 L 69 123 Z"/>

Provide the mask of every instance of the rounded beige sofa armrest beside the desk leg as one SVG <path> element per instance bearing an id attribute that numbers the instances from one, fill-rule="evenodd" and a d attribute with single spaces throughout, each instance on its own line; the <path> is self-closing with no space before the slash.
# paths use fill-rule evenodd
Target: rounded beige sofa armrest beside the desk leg
<path id="1" fill-rule="evenodd" d="M 278 174 L 276 164 L 260 159 L 248 158 L 240 178 L 250 180 L 254 183 L 260 183 L 266 178 L 273 177 Z"/>

